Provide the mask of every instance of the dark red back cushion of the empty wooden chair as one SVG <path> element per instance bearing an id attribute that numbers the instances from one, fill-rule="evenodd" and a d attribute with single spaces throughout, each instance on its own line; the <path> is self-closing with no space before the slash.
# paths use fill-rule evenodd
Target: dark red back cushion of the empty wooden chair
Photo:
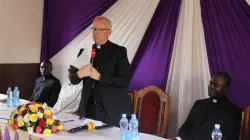
<path id="1" fill-rule="evenodd" d="M 160 110 L 160 98 L 154 91 L 149 91 L 141 104 L 139 131 L 147 134 L 157 132 L 158 116 Z"/>

